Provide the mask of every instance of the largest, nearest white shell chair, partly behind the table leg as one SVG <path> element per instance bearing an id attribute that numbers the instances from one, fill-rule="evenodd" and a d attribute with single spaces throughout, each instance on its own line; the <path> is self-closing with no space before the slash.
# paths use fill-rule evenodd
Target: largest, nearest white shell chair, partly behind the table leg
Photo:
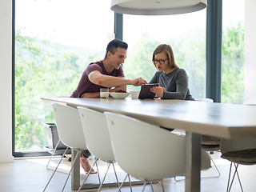
<path id="1" fill-rule="evenodd" d="M 144 180 L 142 191 L 146 182 L 162 182 L 162 178 L 185 174 L 185 137 L 122 114 L 104 114 L 110 131 L 114 158 L 127 174 Z M 202 167 L 210 167 L 210 158 L 203 150 Z M 122 185 L 119 190 L 121 187 Z M 151 187 L 153 189 L 152 185 Z M 162 190 L 164 191 L 163 185 Z"/>

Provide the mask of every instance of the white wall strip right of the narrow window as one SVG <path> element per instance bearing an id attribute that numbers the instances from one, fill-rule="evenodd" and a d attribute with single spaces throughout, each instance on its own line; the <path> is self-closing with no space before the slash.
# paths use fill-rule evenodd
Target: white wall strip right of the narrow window
<path id="1" fill-rule="evenodd" d="M 245 103 L 256 104 L 256 1 L 245 6 Z"/>

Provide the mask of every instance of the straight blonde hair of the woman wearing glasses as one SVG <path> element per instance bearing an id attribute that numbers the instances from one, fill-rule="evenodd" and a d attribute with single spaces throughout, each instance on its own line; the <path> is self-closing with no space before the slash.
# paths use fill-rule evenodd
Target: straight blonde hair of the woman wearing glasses
<path id="1" fill-rule="evenodd" d="M 154 55 L 161 54 L 162 52 L 166 52 L 167 57 L 169 59 L 169 66 L 171 69 L 178 67 L 175 62 L 175 59 L 174 59 L 173 50 L 171 49 L 171 47 L 169 45 L 166 45 L 166 44 L 161 44 L 161 45 L 157 46 L 157 48 L 155 48 L 152 61 L 154 61 Z M 154 66 L 157 67 L 155 64 L 154 64 Z"/>

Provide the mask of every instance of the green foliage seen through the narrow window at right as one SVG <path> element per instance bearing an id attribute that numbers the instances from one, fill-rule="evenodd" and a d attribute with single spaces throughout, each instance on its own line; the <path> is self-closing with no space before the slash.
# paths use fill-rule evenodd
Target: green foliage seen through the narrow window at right
<path id="1" fill-rule="evenodd" d="M 243 103 L 244 29 L 228 27 L 222 37 L 222 102 Z"/>

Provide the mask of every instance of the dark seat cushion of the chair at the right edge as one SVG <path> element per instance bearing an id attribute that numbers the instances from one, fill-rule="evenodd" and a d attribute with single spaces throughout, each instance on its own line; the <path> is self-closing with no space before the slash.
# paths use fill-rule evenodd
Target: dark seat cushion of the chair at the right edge
<path id="1" fill-rule="evenodd" d="M 243 165 L 256 164 L 256 149 L 229 151 L 221 156 L 230 162 L 236 162 Z"/>

